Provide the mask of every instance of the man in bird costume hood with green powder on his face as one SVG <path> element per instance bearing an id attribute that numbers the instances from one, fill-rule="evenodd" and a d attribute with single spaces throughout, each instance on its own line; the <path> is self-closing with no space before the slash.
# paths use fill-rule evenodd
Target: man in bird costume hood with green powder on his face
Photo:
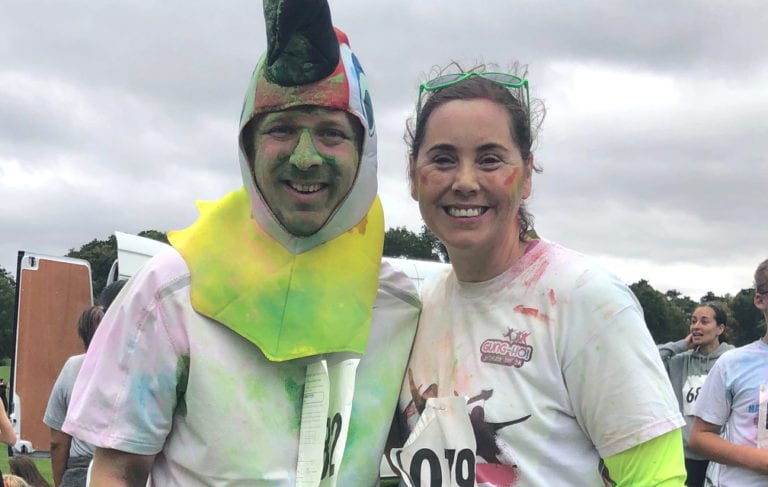
<path id="1" fill-rule="evenodd" d="M 365 74 L 325 0 L 267 0 L 243 188 L 199 204 L 105 316 L 64 430 L 91 485 L 364 486 L 416 327 L 381 263 Z"/>

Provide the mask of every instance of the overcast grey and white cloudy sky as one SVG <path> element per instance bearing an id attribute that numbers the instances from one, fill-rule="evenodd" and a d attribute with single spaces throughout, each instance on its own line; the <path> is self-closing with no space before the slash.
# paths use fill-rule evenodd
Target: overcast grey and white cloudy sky
<path id="1" fill-rule="evenodd" d="M 183 228 L 240 185 L 237 121 L 266 46 L 259 1 L 4 0 L 0 266 L 115 230 Z M 539 233 L 626 282 L 698 299 L 768 257 L 768 9 L 760 1 L 337 0 L 366 69 L 387 226 L 417 86 L 451 60 L 528 65 L 546 107 Z"/>

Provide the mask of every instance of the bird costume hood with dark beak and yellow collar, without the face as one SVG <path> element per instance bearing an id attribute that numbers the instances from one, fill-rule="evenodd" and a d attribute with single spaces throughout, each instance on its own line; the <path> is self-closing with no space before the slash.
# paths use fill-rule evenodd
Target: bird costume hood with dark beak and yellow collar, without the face
<path id="1" fill-rule="evenodd" d="M 384 239 L 376 196 L 376 127 L 365 73 L 326 0 L 266 0 L 268 48 L 240 116 L 244 187 L 169 233 L 191 274 L 195 310 L 281 361 L 362 354 L 378 288 Z M 249 123 L 299 106 L 352 114 L 363 127 L 355 182 L 314 234 L 289 233 L 262 196 L 245 147 Z"/>

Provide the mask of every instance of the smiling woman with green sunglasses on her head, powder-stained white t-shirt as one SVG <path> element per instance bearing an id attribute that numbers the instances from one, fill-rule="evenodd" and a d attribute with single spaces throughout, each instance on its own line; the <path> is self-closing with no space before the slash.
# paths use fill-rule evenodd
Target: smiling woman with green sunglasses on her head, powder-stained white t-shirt
<path id="1" fill-rule="evenodd" d="M 684 421 L 637 299 L 533 231 L 528 97 L 480 68 L 420 86 L 411 195 L 452 270 L 422 292 L 388 458 L 432 485 L 680 486 Z"/>

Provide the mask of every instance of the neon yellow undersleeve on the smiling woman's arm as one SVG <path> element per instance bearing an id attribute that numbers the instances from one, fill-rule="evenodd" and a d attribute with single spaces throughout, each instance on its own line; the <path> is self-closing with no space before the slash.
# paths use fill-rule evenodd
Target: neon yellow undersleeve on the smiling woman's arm
<path id="1" fill-rule="evenodd" d="M 670 431 L 605 459 L 616 487 L 646 485 L 679 487 L 685 483 L 685 459 L 680 430 Z"/>

